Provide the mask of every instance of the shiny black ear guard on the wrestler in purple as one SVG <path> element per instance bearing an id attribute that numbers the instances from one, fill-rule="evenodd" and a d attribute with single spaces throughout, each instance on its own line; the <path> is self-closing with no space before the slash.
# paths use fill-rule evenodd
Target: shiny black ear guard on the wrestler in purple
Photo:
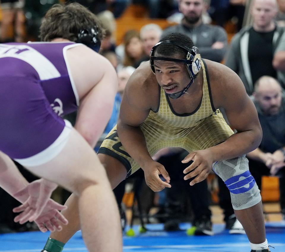
<path id="1" fill-rule="evenodd" d="M 97 26 L 90 29 L 81 29 L 77 38 L 77 43 L 85 44 L 95 52 L 99 52 L 101 41 L 99 39 L 99 30 Z"/>

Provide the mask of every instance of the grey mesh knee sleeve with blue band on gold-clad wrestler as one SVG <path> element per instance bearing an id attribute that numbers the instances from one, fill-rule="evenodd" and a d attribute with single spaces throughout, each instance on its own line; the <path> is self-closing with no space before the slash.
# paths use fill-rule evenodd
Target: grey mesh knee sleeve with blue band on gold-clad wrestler
<path id="1" fill-rule="evenodd" d="M 213 171 L 224 181 L 235 210 L 250 208 L 261 201 L 260 191 L 248 169 L 246 155 L 213 163 Z"/>

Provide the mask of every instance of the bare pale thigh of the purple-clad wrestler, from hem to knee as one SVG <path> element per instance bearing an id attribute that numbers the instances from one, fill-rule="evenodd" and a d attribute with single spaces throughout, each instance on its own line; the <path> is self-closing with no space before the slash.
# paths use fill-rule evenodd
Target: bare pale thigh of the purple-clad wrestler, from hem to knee
<path id="1" fill-rule="evenodd" d="M 56 157 L 41 165 L 26 165 L 26 168 L 76 194 L 91 184 L 110 185 L 96 153 L 74 128 Z"/>

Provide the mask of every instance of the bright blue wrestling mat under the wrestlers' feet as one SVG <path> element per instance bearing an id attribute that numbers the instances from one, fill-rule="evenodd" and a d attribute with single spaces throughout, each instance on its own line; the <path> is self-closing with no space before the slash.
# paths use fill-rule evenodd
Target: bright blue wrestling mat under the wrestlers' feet
<path id="1" fill-rule="evenodd" d="M 165 232 L 162 224 L 149 224 L 149 231 L 135 237 L 124 235 L 124 252 L 250 252 L 246 235 L 229 235 L 223 224 L 214 224 L 213 236 L 188 236 L 185 231 Z M 181 229 L 189 228 L 181 224 Z M 126 228 L 127 230 L 128 228 Z M 49 233 L 25 232 L 0 235 L 0 252 L 40 252 Z M 267 222 L 266 234 L 271 252 L 285 251 L 285 224 Z M 86 252 L 81 232 L 77 232 L 65 245 L 64 251 Z M 64 252 L 63 251 L 63 252 Z"/>

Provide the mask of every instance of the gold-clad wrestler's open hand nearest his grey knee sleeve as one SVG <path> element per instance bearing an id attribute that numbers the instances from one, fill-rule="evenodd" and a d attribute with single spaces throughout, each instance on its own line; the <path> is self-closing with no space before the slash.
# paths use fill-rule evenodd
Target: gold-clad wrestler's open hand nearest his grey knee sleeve
<path id="1" fill-rule="evenodd" d="M 184 180 L 197 176 L 190 182 L 190 185 L 193 186 L 207 178 L 210 173 L 213 165 L 212 153 L 207 149 L 193 151 L 190 152 L 181 162 L 188 163 L 191 160 L 193 160 L 193 163 L 183 170 L 183 173 L 188 173 L 184 176 Z"/>

